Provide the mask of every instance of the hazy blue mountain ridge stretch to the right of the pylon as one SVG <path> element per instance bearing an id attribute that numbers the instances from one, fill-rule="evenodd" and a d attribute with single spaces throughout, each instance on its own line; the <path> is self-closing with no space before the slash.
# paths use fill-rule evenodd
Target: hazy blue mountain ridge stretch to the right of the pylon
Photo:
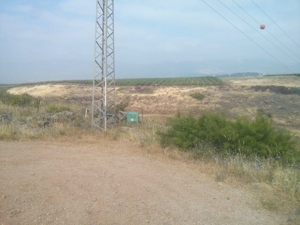
<path id="1" fill-rule="evenodd" d="M 300 71 L 299 65 L 291 64 L 288 67 L 294 72 Z M 207 76 L 239 72 L 290 73 L 278 62 L 267 59 L 182 61 L 151 65 L 116 62 L 116 76 L 124 78 Z"/>

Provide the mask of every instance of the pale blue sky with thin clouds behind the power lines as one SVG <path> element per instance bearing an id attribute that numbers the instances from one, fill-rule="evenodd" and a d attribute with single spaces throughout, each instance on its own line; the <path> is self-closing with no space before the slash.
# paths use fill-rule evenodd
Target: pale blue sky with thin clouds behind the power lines
<path id="1" fill-rule="evenodd" d="M 293 63 L 217 0 L 205 1 L 275 58 Z M 300 62 L 232 0 L 220 1 Z M 300 56 L 300 48 L 250 0 L 235 1 Z M 300 45 L 300 1 L 253 1 Z M 95 0 L 0 0 L 0 83 L 91 79 L 95 5 Z M 118 62 L 272 59 L 201 0 L 115 0 L 114 7 L 116 71 Z"/>

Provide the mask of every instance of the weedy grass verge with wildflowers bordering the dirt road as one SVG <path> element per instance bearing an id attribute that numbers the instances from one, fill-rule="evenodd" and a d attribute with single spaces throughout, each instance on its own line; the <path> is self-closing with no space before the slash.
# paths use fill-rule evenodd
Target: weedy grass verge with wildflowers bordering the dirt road
<path id="1" fill-rule="evenodd" d="M 87 146 L 96 145 L 98 140 L 130 140 L 134 145 L 140 146 L 132 150 L 134 154 L 174 161 L 219 182 L 246 187 L 257 193 L 257 207 L 289 214 L 292 221 L 290 224 L 298 218 L 300 173 L 297 168 L 282 165 L 279 160 L 271 158 L 246 157 L 242 154 L 221 157 L 213 147 L 205 145 L 198 149 L 202 152 L 201 155 L 194 155 L 193 152 L 183 151 L 175 146 L 162 147 L 157 131 L 166 128 L 166 118 L 161 116 L 144 115 L 141 123 L 129 131 L 121 129 L 125 122 L 119 122 L 117 128 L 106 133 L 92 131 L 90 113 L 87 118 L 84 117 L 85 107 L 84 102 L 61 98 L 42 98 L 39 112 L 34 104 L 27 107 L 7 107 L 0 103 L 0 115 L 8 114 L 15 121 L 13 124 L 0 123 L 0 140 L 47 140 Z M 69 110 L 73 115 L 49 119 L 47 121 L 50 126 L 38 126 L 38 121 L 41 120 L 38 116 L 42 113 L 56 113 L 57 109 Z"/>

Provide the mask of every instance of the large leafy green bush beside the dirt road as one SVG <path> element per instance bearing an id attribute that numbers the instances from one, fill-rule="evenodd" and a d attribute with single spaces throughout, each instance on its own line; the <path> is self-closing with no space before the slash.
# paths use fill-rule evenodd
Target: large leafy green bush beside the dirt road
<path id="1" fill-rule="evenodd" d="M 231 152 L 260 157 L 299 160 L 296 143 L 288 131 L 277 129 L 272 120 L 259 113 L 254 121 L 239 118 L 228 121 L 221 113 L 176 115 L 167 121 L 167 130 L 159 132 L 163 146 L 175 145 L 193 151 L 197 146 L 214 146 L 220 153 Z"/>

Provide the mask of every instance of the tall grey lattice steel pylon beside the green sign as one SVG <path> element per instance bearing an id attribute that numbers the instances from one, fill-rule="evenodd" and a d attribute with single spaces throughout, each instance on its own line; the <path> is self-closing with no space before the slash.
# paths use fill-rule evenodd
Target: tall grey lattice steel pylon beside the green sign
<path id="1" fill-rule="evenodd" d="M 96 1 L 92 128 L 116 126 L 113 0 Z"/>

